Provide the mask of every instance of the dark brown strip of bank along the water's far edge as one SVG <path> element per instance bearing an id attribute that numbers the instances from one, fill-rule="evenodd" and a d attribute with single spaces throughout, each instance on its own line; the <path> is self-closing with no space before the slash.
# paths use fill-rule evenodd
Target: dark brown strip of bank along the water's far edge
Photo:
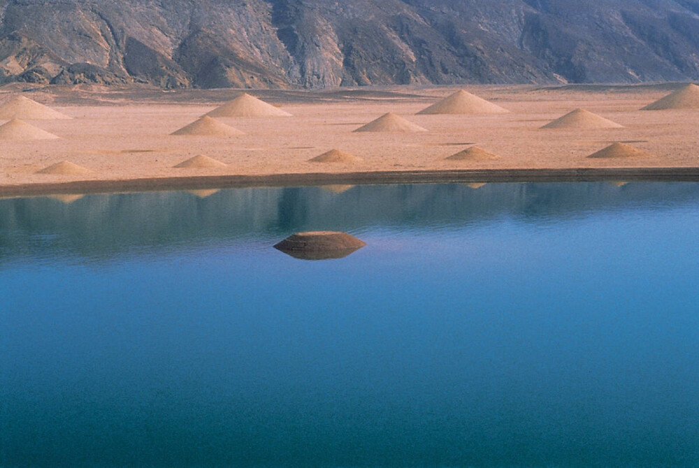
<path id="1" fill-rule="evenodd" d="M 667 168 L 526 168 L 389 170 L 356 173 L 287 173 L 142 177 L 77 180 L 0 186 L 0 197 L 53 193 L 110 193 L 250 187 L 304 187 L 324 184 L 438 184 L 466 182 L 699 182 L 699 166 Z"/>

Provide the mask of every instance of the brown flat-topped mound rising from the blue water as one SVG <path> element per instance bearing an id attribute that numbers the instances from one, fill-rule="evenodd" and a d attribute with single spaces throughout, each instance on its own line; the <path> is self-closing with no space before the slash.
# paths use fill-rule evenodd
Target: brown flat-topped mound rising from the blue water
<path id="1" fill-rule="evenodd" d="M 310 231 L 292 234 L 274 245 L 284 254 L 306 260 L 342 258 L 364 247 L 363 242 L 347 233 L 338 231 Z"/>

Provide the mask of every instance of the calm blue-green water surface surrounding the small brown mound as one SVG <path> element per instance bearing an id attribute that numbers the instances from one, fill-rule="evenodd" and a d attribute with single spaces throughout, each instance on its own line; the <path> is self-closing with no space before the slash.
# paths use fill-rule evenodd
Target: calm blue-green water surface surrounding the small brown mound
<path id="1" fill-rule="evenodd" d="M 699 466 L 699 184 L 206 194 L 0 200 L 0 467 Z"/>

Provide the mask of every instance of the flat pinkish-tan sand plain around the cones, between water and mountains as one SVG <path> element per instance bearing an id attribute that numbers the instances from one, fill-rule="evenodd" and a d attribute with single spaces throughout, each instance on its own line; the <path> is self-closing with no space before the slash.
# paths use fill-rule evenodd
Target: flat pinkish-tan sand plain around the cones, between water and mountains
<path id="1" fill-rule="evenodd" d="M 682 87 L 467 85 L 250 91 L 291 116 L 216 117 L 217 122 L 243 133 L 219 137 L 171 133 L 236 98 L 240 91 L 13 84 L 0 88 L 0 104 L 21 95 L 72 118 L 27 119 L 57 139 L 0 139 L 0 195 L 508 178 L 619 180 L 621 175 L 633 179 L 668 173 L 693 178 L 699 174 L 699 109 L 641 110 Z M 510 112 L 417 113 L 458 89 Z M 621 127 L 540 128 L 576 108 Z M 354 132 L 387 112 L 426 131 Z M 587 157 L 614 142 L 626 142 L 641 152 L 621 158 Z M 447 159 L 473 145 L 498 157 Z M 331 149 L 357 159 L 309 161 Z M 199 154 L 225 166 L 174 167 Z M 59 161 L 71 161 L 89 172 L 38 172 Z M 586 173 L 587 168 L 600 170 Z M 667 168 L 671 170 L 663 173 Z M 565 171 L 570 169 L 575 170 Z"/>

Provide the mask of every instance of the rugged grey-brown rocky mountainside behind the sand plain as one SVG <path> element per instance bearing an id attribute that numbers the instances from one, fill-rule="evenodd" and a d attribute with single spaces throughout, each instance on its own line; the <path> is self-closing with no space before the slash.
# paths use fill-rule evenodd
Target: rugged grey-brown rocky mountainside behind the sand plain
<path id="1" fill-rule="evenodd" d="M 0 82 L 699 79 L 699 0 L 0 0 Z"/>

